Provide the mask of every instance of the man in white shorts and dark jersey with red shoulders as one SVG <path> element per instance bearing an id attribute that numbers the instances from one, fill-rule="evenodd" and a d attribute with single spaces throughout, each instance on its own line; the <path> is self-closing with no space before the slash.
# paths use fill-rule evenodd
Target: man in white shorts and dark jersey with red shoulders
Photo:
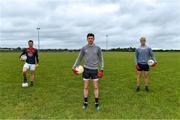
<path id="1" fill-rule="evenodd" d="M 20 60 L 22 55 L 26 55 L 26 63 L 23 66 L 22 74 L 23 74 L 23 84 L 27 84 L 27 70 L 30 70 L 30 86 L 33 86 L 33 81 L 34 81 L 34 74 L 35 74 L 35 69 L 38 66 L 39 59 L 38 59 L 38 51 L 37 49 L 33 48 L 33 41 L 29 40 L 28 41 L 29 47 L 26 48 L 23 53 L 20 55 Z"/>

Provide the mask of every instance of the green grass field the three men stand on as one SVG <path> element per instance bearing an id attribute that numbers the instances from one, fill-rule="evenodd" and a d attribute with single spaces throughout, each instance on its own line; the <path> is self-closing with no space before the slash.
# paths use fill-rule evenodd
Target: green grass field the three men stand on
<path id="1" fill-rule="evenodd" d="M 83 81 L 71 71 L 78 53 L 40 53 L 33 88 L 21 88 L 19 54 L 0 53 L 1 119 L 180 119 L 180 53 L 155 53 L 158 66 L 151 69 L 149 93 L 143 83 L 135 92 L 133 53 L 104 53 L 99 112 L 92 84 L 88 111 L 82 110 Z"/>

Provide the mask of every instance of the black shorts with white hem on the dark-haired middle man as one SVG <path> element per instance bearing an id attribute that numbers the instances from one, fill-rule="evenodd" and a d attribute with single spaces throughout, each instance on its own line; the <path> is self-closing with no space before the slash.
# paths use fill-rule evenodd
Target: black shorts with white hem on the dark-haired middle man
<path id="1" fill-rule="evenodd" d="M 90 80 L 90 79 L 98 80 L 98 70 L 84 68 L 83 79 L 84 80 Z"/>

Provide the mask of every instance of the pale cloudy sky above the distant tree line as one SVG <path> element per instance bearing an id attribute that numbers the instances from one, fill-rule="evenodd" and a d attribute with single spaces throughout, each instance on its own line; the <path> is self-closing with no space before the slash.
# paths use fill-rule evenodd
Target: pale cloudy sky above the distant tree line
<path id="1" fill-rule="evenodd" d="M 180 49 L 180 0 L 0 0 L 0 47 L 81 48 L 86 34 L 108 48 Z"/>

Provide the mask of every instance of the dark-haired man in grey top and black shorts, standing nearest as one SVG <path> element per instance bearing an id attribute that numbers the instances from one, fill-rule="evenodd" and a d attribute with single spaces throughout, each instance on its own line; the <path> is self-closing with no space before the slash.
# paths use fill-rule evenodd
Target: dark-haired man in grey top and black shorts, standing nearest
<path id="1" fill-rule="evenodd" d="M 88 44 L 84 46 L 74 66 L 72 67 L 73 72 L 77 74 L 75 68 L 80 65 L 81 60 L 84 58 L 84 104 L 83 109 L 86 110 L 88 107 L 88 93 L 89 93 L 89 80 L 93 80 L 94 86 L 94 97 L 95 97 L 95 109 L 99 111 L 99 87 L 98 78 L 103 77 L 104 60 L 101 48 L 94 44 L 95 36 L 92 33 L 87 35 Z M 100 65 L 100 70 L 98 72 L 98 66 Z"/>

